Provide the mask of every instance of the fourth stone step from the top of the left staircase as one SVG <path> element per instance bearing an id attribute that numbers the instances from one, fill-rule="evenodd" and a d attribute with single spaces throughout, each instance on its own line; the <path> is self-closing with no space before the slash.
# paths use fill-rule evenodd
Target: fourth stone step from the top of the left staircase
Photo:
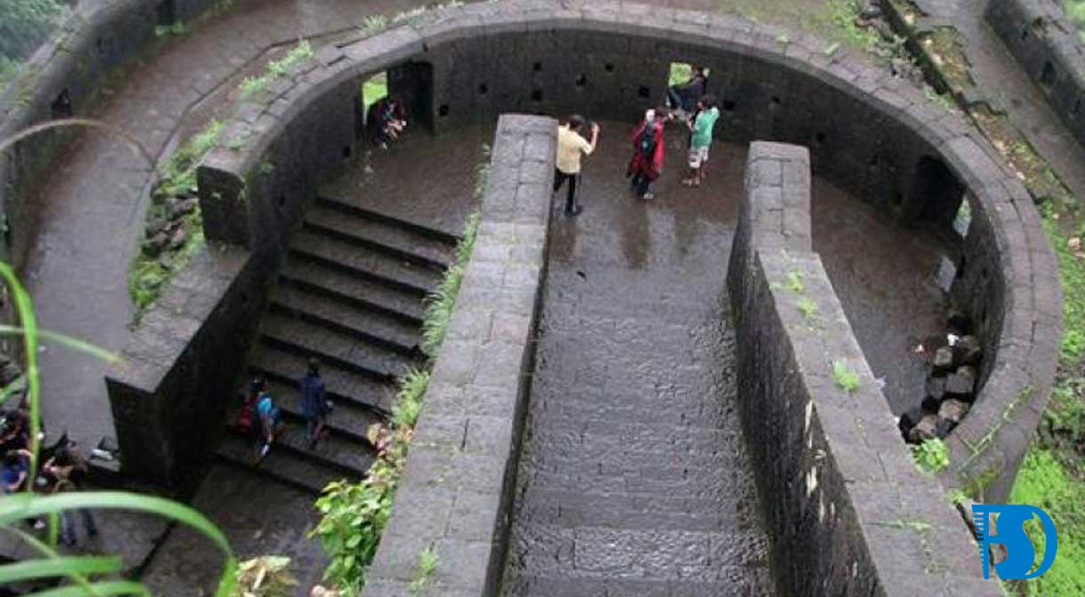
<path id="1" fill-rule="evenodd" d="M 396 317 L 414 326 L 422 325 L 425 313 L 422 298 L 414 293 L 374 284 L 371 280 L 293 255 L 286 257 L 279 270 L 279 283 Z"/>

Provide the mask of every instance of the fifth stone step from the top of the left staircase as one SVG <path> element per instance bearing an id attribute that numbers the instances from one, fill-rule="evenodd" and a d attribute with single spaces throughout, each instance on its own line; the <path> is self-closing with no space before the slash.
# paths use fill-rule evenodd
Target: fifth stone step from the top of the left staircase
<path id="1" fill-rule="evenodd" d="M 381 313 L 359 310 L 349 303 L 302 289 L 276 288 L 271 292 L 271 310 L 333 329 L 407 356 L 413 356 L 419 351 L 421 331 L 418 326 L 405 323 Z"/>

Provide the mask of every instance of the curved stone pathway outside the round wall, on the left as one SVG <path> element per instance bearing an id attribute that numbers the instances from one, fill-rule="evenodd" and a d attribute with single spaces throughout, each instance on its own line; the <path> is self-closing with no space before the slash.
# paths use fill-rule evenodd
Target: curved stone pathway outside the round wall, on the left
<path id="1" fill-rule="evenodd" d="M 128 130 L 152 155 L 178 132 L 202 126 L 229 101 L 224 84 L 258 67 L 271 48 L 395 14 L 419 0 L 239 0 L 234 7 L 167 40 L 126 67 L 89 116 Z M 81 112 L 80 106 L 76 106 Z M 196 120 L 193 123 L 193 120 Z M 41 228 L 24 268 L 42 327 L 119 351 L 129 338 L 128 267 L 142 233 L 149 167 L 114 137 L 87 134 L 58 160 L 42 190 Z M 103 361 L 43 343 L 43 414 L 51 430 L 85 445 L 113 436 Z"/>

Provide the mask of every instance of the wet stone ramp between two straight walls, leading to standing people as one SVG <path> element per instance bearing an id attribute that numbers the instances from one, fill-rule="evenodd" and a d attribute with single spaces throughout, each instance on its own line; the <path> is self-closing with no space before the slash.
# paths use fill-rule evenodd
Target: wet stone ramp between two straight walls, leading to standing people
<path id="1" fill-rule="evenodd" d="M 726 323 L 724 174 L 638 202 L 613 176 L 621 141 L 589 158 L 585 213 L 551 227 L 502 595 L 774 595 Z"/>

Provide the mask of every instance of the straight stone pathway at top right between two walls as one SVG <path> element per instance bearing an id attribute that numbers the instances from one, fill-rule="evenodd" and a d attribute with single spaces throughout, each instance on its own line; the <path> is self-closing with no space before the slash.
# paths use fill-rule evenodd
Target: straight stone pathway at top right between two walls
<path id="1" fill-rule="evenodd" d="M 953 25 L 965 38 L 965 52 L 978 89 L 1006 110 L 1010 122 L 1059 178 L 1085 198 L 1085 148 L 1073 138 L 1047 99 L 983 20 L 987 2 L 999 0 L 915 0 L 939 23 Z"/>

